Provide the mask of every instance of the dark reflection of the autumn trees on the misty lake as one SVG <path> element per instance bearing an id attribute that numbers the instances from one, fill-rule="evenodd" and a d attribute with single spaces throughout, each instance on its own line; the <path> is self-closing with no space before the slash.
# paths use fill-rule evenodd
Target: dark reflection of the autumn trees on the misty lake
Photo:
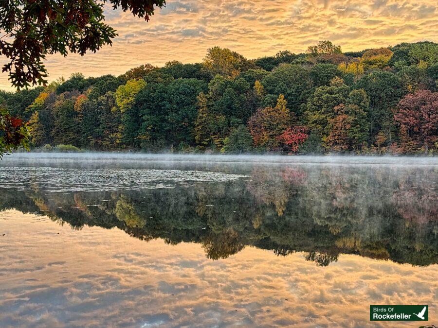
<path id="1" fill-rule="evenodd" d="M 124 170 L 120 176 L 132 176 Z M 318 266 L 342 254 L 438 263 L 437 167 L 260 164 L 227 170 L 236 176 L 68 193 L 50 185 L 50 172 L 44 184 L 22 176 L 20 188 L 5 175 L 0 210 L 43 214 L 76 230 L 117 227 L 145 241 L 196 242 L 215 260 L 252 245 L 279 256 L 306 252 Z M 92 172 L 83 176 L 75 186 L 90 181 Z"/>

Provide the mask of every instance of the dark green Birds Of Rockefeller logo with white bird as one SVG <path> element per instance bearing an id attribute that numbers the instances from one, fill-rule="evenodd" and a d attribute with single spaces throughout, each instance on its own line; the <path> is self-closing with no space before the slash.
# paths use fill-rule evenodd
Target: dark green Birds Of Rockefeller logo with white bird
<path id="1" fill-rule="evenodd" d="M 370 321 L 428 321 L 428 305 L 370 305 Z"/>

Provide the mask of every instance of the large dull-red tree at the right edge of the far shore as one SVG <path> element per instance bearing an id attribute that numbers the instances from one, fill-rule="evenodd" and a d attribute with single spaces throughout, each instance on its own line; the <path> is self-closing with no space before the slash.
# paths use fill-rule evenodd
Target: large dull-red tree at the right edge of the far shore
<path id="1" fill-rule="evenodd" d="M 438 92 L 418 90 L 407 94 L 394 109 L 402 147 L 428 147 L 438 141 Z"/>

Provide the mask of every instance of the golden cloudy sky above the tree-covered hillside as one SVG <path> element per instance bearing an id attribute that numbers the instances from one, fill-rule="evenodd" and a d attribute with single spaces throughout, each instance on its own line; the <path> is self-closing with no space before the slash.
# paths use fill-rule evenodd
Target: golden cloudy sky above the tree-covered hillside
<path id="1" fill-rule="evenodd" d="M 119 75 L 145 63 L 200 62 L 214 46 L 250 59 L 305 52 L 319 40 L 343 51 L 438 41 L 438 2 L 430 0 L 167 0 L 149 22 L 110 6 L 105 13 L 119 34 L 113 45 L 83 57 L 49 56 L 49 81 L 74 72 Z M 0 73 L 0 88 L 12 90 L 7 78 Z"/>

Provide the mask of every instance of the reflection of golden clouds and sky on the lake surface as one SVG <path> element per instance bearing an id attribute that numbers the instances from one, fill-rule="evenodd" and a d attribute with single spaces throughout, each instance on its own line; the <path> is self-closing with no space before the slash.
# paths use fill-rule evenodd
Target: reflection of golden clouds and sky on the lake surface
<path id="1" fill-rule="evenodd" d="M 437 264 L 342 254 L 320 267 L 303 253 L 281 257 L 255 247 L 214 261 L 197 243 L 146 242 L 119 229 L 74 231 L 33 214 L 0 213 L 7 217 L 0 326 L 371 327 L 370 304 L 429 304 L 429 315 L 437 313 Z"/>

